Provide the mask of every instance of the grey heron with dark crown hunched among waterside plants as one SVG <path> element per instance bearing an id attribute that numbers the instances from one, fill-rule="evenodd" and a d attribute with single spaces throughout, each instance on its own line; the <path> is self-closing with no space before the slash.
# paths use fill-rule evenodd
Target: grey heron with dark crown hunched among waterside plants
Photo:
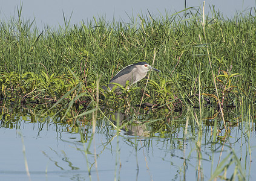
<path id="1" fill-rule="evenodd" d="M 146 62 L 139 62 L 134 63 L 132 65 L 128 65 L 125 68 L 123 68 L 121 71 L 119 71 L 111 80 L 110 83 L 108 83 L 108 87 L 113 89 L 115 84 L 112 83 L 118 83 L 125 87 L 126 81 L 128 80 L 130 85 L 136 83 L 137 81 L 142 80 L 146 76 L 146 73 L 148 71 L 157 71 L 160 72 L 158 69 L 153 68 Z"/>

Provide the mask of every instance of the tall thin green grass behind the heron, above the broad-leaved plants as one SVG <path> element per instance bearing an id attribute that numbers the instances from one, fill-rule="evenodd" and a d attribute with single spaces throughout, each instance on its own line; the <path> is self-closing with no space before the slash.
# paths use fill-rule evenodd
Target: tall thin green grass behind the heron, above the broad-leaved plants
<path id="1" fill-rule="evenodd" d="M 160 17 L 148 14 L 128 23 L 94 19 L 70 25 L 65 21 L 67 25 L 59 30 L 45 27 L 42 32 L 22 17 L 1 22 L 0 70 L 22 75 L 47 69 L 59 75 L 68 72 L 67 66 L 78 73 L 86 65 L 88 73 L 102 75 L 107 82 L 123 66 L 143 60 L 152 63 L 156 48 L 154 66 L 162 70 L 162 77 L 183 75 L 193 85 L 201 63 L 204 87 L 212 83 L 208 46 L 215 74 L 229 69 L 243 75 L 246 81 L 241 85 L 255 84 L 249 81 L 255 73 L 255 17 L 245 14 L 224 19 L 214 11 L 214 17 L 205 20 L 205 39 L 200 10 L 186 13 L 186 18 L 184 11 Z"/>

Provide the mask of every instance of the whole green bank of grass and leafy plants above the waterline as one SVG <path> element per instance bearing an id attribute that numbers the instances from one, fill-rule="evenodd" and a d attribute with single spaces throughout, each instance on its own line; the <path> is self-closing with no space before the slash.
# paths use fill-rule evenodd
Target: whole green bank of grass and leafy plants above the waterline
<path id="1" fill-rule="evenodd" d="M 154 67 L 162 73 L 151 74 L 146 87 L 150 97 L 143 102 L 165 105 L 171 112 L 180 105 L 202 107 L 208 100 L 239 107 L 246 97 L 254 103 L 256 25 L 252 12 L 225 19 L 216 11 L 203 16 L 202 10 L 188 8 L 166 16 L 149 13 L 128 23 L 94 19 L 80 25 L 70 25 L 65 19 L 64 27 L 45 27 L 44 31 L 18 12 L 18 19 L 0 25 L 2 97 L 57 101 L 80 85 L 80 93 L 87 92 L 96 101 L 97 80 L 102 87 L 126 65 L 151 64 L 155 52 Z M 120 107 L 139 104 L 145 82 L 130 90 L 134 95 L 128 100 L 105 93 L 105 102 Z M 79 91 L 70 92 L 69 100 Z"/>

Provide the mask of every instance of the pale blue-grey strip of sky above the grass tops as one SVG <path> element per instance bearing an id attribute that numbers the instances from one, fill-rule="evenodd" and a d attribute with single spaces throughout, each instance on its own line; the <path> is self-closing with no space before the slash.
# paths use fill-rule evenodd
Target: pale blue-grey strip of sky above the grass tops
<path id="1" fill-rule="evenodd" d="M 50 25 L 59 27 L 64 24 L 64 18 L 70 17 L 71 24 L 79 25 L 82 21 L 91 21 L 93 17 L 105 17 L 107 21 L 111 21 L 114 17 L 116 21 L 122 19 L 129 22 L 128 16 L 136 17 L 137 14 L 148 14 L 157 16 L 157 14 L 165 15 L 173 14 L 185 8 L 185 1 L 177 0 L 0 0 L 0 19 L 8 21 L 10 17 L 18 17 L 17 6 L 22 7 L 22 17 L 33 20 L 35 18 L 37 26 L 44 27 Z M 233 17 L 235 12 L 242 13 L 249 8 L 255 8 L 256 0 L 212 0 L 206 1 L 206 12 L 209 12 L 209 5 L 215 5 L 215 9 L 219 9 L 224 16 Z M 187 0 L 186 7 L 202 7 L 202 0 Z M 255 13 L 254 13 L 255 14 Z"/>

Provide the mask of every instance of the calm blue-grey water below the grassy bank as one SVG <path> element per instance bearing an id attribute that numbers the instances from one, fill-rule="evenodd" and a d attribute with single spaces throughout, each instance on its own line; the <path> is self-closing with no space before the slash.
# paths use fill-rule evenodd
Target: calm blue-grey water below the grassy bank
<path id="1" fill-rule="evenodd" d="M 98 121 L 92 136 L 90 122 L 81 123 L 84 125 L 80 134 L 70 124 L 40 120 L 30 122 L 29 115 L 20 116 L 10 128 L 1 119 L 1 179 L 29 180 L 23 147 L 31 180 L 90 180 L 90 169 L 92 180 L 197 180 L 199 175 L 209 180 L 222 161 L 228 165 L 226 176 L 230 178 L 235 170 L 235 156 L 240 159 L 247 180 L 256 176 L 256 135 L 252 122 L 229 127 L 231 134 L 226 141 L 213 143 L 213 127 L 206 123 L 200 141 L 199 130 L 190 126 L 186 139 L 183 127 L 175 126 L 171 132 L 138 137 L 123 131 L 117 135 L 108 122 Z M 224 133 L 220 130 L 220 136 Z M 199 143 L 201 152 L 197 148 Z M 199 165 L 202 175 L 198 173 Z"/>

